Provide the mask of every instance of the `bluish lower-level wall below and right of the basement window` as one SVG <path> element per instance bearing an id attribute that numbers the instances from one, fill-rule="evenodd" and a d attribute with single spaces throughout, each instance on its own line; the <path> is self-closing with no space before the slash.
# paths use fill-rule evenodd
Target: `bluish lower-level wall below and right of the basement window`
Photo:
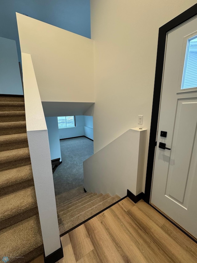
<path id="1" fill-rule="evenodd" d="M 59 129 L 59 139 L 84 135 L 84 116 L 75 116 L 76 127 Z"/>

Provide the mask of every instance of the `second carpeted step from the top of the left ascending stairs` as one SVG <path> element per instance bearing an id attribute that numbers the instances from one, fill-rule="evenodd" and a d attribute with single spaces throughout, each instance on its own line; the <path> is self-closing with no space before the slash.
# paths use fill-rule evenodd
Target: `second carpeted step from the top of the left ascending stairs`
<path id="1" fill-rule="evenodd" d="M 0 122 L 25 121 L 25 111 L 1 111 Z"/>

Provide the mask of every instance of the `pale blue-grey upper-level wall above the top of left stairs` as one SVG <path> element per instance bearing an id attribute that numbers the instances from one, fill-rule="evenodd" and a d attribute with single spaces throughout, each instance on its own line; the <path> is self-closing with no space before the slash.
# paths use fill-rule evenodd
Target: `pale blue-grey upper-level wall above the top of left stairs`
<path id="1" fill-rule="evenodd" d="M 0 94 L 23 95 L 16 41 L 0 37 Z"/>

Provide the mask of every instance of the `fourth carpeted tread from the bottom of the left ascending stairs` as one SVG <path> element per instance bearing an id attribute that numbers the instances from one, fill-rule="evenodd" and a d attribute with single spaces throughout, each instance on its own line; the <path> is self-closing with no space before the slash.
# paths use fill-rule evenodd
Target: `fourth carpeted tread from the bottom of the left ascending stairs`
<path id="1" fill-rule="evenodd" d="M 12 162 L 30 157 L 29 148 L 0 152 L 0 163 Z"/>

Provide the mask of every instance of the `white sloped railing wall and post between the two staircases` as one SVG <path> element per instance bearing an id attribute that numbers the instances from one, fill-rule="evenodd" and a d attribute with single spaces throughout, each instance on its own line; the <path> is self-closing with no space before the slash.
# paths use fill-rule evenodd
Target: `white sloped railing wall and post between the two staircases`
<path id="1" fill-rule="evenodd" d="M 45 256 L 61 247 L 49 138 L 31 55 L 22 53 L 27 138 Z"/>

